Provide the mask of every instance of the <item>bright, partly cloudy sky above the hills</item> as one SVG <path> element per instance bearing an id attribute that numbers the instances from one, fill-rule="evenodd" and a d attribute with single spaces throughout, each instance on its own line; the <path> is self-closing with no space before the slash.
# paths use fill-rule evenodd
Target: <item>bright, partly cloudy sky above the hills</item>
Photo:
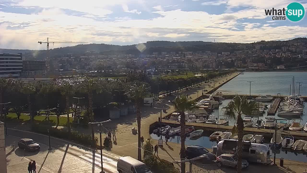
<path id="1" fill-rule="evenodd" d="M 299 22 L 265 15 L 291 2 L 305 7 Z M 37 42 L 47 37 L 115 45 L 288 40 L 307 37 L 306 9 L 307 0 L 0 0 L 0 48 L 42 50 Z"/>

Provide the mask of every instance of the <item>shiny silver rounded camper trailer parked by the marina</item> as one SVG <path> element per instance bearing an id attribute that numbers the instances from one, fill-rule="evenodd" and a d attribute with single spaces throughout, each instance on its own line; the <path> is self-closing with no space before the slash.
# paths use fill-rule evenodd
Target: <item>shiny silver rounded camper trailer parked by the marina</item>
<path id="1" fill-rule="evenodd" d="M 222 139 L 217 144 L 217 156 L 222 154 L 235 154 L 238 150 L 237 139 Z M 248 162 L 257 162 L 270 164 L 270 148 L 264 144 L 251 143 L 250 141 L 243 141 L 242 158 Z"/>

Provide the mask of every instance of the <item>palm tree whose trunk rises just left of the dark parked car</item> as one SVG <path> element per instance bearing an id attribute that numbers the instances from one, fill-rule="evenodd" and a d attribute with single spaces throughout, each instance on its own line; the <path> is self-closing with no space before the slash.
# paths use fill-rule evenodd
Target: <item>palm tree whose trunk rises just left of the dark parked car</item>
<path id="1" fill-rule="evenodd" d="M 181 150 L 180 158 L 185 159 L 185 111 L 193 111 L 199 107 L 196 105 L 195 101 L 188 99 L 186 96 L 181 95 L 176 97 L 174 100 L 174 108 L 180 113 L 180 125 L 181 125 Z M 181 173 L 185 173 L 185 163 L 181 163 Z"/>

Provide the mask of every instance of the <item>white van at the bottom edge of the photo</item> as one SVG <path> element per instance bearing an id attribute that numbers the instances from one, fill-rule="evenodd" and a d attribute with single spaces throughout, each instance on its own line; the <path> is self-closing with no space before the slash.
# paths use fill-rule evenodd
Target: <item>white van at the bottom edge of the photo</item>
<path id="1" fill-rule="evenodd" d="M 145 163 L 130 156 L 119 158 L 117 161 L 117 171 L 119 173 L 152 173 Z"/>

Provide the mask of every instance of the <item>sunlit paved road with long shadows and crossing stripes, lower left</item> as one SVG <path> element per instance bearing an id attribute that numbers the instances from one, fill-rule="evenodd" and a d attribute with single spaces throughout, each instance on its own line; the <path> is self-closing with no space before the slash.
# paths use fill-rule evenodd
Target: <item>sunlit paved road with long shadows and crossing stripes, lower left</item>
<path id="1" fill-rule="evenodd" d="M 23 173 L 27 171 L 29 161 L 35 160 L 37 172 L 40 173 L 99 173 L 101 171 L 100 151 L 51 137 L 49 139 L 27 131 L 8 129 L 6 136 L 6 156 L 8 173 Z M 24 151 L 18 148 L 18 140 L 31 138 L 40 144 L 40 151 Z M 14 144 L 14 150 L 13 150 Z M 117 160 L 120 156 L 103 151 L 103 170 L 107 173 L 118 173 Z"/>

